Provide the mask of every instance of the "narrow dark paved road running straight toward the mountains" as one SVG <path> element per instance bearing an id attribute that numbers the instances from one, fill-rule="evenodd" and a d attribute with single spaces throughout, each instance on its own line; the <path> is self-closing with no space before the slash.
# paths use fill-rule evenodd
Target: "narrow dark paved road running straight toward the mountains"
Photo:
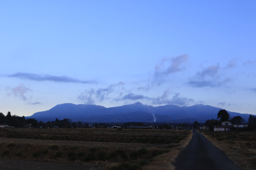
<path id="1" fill-rule="evenodd" d="M 188 146 L 174 163 L 176 170 L 238 170 L 226 154 L 212 145 L 202 134 L 193 130 Z"/>

